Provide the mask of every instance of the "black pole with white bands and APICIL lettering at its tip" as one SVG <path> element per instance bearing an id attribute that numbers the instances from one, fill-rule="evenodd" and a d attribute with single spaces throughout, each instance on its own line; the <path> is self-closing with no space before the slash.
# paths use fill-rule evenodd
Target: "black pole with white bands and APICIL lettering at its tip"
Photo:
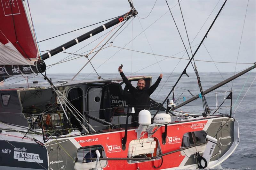
<path id="1" fill-rule="evenodd" d="M 128 1 L 130 3 L 130 6 L 131 6 L 131 11 L 129 11 L 129 12 L 127 12 L 127 13 L 125 13 L 125 14 L 123 14 L 123 15 L 121 15 L 121 16 L 119 16 L 119 17 L 117 17 L 117 18 L 115 18 L 115 19 L 113 19 L 109 22 L 107 22 L 106 24 L 103 24 L 102 26 L 99 26 L 99 27 L 93 29 L 92 31 L 89 31 L 89 32 L 87 32 L 87 33 L 85 33 L 85 34 L 83 34 L 79 37 L 76 37 L 75 39 L 73 39 L 71 41 L 68 41 L 65 44 L 62 44 L 61 46 L 48 51 L 47 53 L 44 53 L 43 55 L 41 55 L 41 58 L 43 60 L 45 60 L 45 59 L 47 59 L 47 58 L 49 58 L 49 57 L 51 57 L 55 54 L 58 54 L 58 53 L 64 51 L 65 49 L 68 49 L 69 47 L 72 47 L 72 46 L 78 44 L 79 42 L 82 42 L 82 41 L 92 37 L 93 35 L 96 35 L 96 34 L 102 32 L 102 31 L 104 31 L 104 30 L 106 30 L 106 29 L 108 29 L 108 28 L 110 28 L 110 27 L 112 27 L 112 26 L 114 26 L 114 25 L 116 25 L 120 22 L 123 22 L 123 21 L 125 21 L 125 20 L 127 20 L 127 19 L 129 19 L 133 16 L 136 16 L 138 14 L 138 12 L 133 7 L 131 0 L 128 0 Z"/>

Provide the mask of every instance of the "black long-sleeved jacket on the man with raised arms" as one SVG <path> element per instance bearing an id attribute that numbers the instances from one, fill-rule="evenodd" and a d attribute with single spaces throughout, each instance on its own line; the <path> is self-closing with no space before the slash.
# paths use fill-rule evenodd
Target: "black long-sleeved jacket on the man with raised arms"
<path id="1" fill-rule="evenodd" d="M 156 90 L 156 87 L 159 85 L 162 78 L 158 77 L 155 84 L 152 85 L 148 89 L 139 90 L 138 88 L 135 88 L 132 86 L 131 82 L 125 77 L 124 73 L 120 73 L 125 85 L 131 92 L 131 95 L 133 97 L 133 100 L 129 103 L 133 105 L 135 108 L 144 109 L 146 108 L 146 105 L 148 104 L 149 96 Z"/>

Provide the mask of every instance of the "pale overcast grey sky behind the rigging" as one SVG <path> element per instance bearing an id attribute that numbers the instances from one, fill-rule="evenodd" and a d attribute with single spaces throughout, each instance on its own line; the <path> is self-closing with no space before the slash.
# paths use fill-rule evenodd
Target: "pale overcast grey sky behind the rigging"
<path id="1" fill-rule="evenodd" d="M 200 41 L 202 40 L 204 34 L 211 25 L 214 17 L 217 15 L 223 2 L 223 0 L 182 0 L 180 2 L 190 42 L 193 41 L 198 31 L 203 26 L 204 22 L 209 17 L 214 7 L 217 5 L 216 8 L 213 10 L 212 14 L 210 15 L 209 19 L 206 21 L 205 25 L 201 29 L 201 31 L 196 36 L 195 40 L 191 43 L 192 46 L 194 46 L 192 47 L 193 52 L 195 52 L 198 46 L 197 44 L 199 44 Z M 247 2 L 247 0 L 227 1 L 224 9 L 220 13 L 220 16 L 217 18 L 214 26 L 209 32 L 207 38 L 205 39 L 204 45 L 214 61 L 236 62 L 237 56 L 237 62 L 240 63 L 253 63 L 256 61 L 255 0 L 249 1 L 244 25 L 244 32 L 241 41 L 241 47 L 238 55 L 238 49 L 244 24 Z M 113 41 L 113 46 L 124 47 L 129 41 L 132 40 L 132 37 L 134 38 L 142 32 L 142 27 L 143 29 L 146 29 L 149 26 L 148 29 L 145 30 L 145 34 L 142 32 L 137 38 L 135 38 L 132 41 L 132 43 L 129 43 L 124 48 L 147 53 L 154 53 L 156 55 L 154 56 L 135 51 L 132 52 L 130 50 L 125 49 L 116 53 L 120 48 L 112 46 L 100 51 L 92 59 L 92 64 L 94 68 L 98 68 L 102 63 L 104 63 L 106 60 L 108 60 L 108 58 L 112 56 L 104 65 L 100 66 L 97 69 L 99 73 L 115 73 L 117 72 L 117 67 L 121 65 L 121 63 L 124 65 L 124 72 L 172 72 L 177 64 L 178 65 L 174 72 L 181 72 L 188 63 L 188 60 L 180 61 L 180 59 L 164 57 L 174 56 L 181 58 L 184 54 L 185 49 L 178 34 L 178 31 L 174 25 L 173 19 L 171 17 L 166 2 L 163 0 L 133 0 L 133 4 L 135 9 L 138 11 L 138 16 L 140 18 L 136 16 L 135 18 L 133 18 L 132 22 L 129 25 L 128 23 L 130 21 L 126 23 L 126 25 L 128 26 Z M 153 11 L 147 18 L 145 18 L 151 11 L 154 4 L 155 7 L 153 8 Z M 168 1 L 168 4 L 170 7 L 173 7 L 174 5 L 178 4 L 178 1 Z M 38 41 L 122 15 L 130 10 L 130 5 L 127 0 L 33 0 L 29 1 L 29 5 Z M 171 11 L 174 16 L 175 22 L 178 25 L 183 41 L 185 42 L 185 45 L 188 48 L 188 39 L 181 18 L 179 5 L 176 5 Z M 152 23 L 154 24 L 150 26 Z M 70 41 L 100 25 L 102 24 L 91 26 L 73 33 L 60 36 L 58 38 L 41 42 L 39 43 L 40 50 L 43 51 L 56 48 L 61 44 Z M 114 27 L 111 27 L 108 30 L 111 30 L 112 28 Z M 104 33 L 107 33 L 107 31 L 99 33 L 98 35 L 95 35 L 92 38 L 87 39 L 79 43 L 78 45 L 69 48 L 65 52 L 81 54 L 86 51 L 89 51 L 95 48 L 104 36 L 98 39 L 97 41 L 93 42 L 92 44 L 86 47 L 84 46 L 92 42 L 93 40 L 99 38 Z M 115 32 L 115 30 L 113 32 Z M 105 41 L 111 35 L 109 35 L 105 39 Z M 101 45 L 103 45 L 105 41 L 103 41 Z M 212 61 L 204 45 L 200 47 L 194 59 Z M 80 48 L 82 49 L 76 52 Z M 190 50 L 188 50 L 188 52 L 189 55 L 191 56 Z M 89 52 L 84 54 L 88 53 Z M 64 59 L 67 56 L 68 54 L 60 53 L 45 60 L 45 63 L 46 65 L 50 65 L 59 62 L 61 59 Z M 89 56 L 89 58 L 91 57 L 92 54 Z M 183 58 L 188 59 L 188 55 L 185 54 Z M 84 64 L 87 61 L 88 60 L 85 57 L 81 57 L 70 62 L 57 64 L 51 68 L 48 67 L 49 69 L 47 70 L 47 73 L 76 73 L 84 66 Z M 156 63 L 157 61 L 159 62 L 159 64 Z M 236 64 L 230 63 L 215 64 L 217 65 L 218 69 L 221 72 L 234 72 L 235 67 L 236 71 L 239 71 L 252 65 L 238 64 L 236 66 Z M 196 66 L 199 72 L 218 71 L 214 63 L 196 61 Z M 145 69 L 140 70 L 142 68 Z M 92 71 L 93 68 L 91 65 L 87 65 L 82 70 L 83 73 L 90 73 Z M 188 67 L 187 72 L 193 72 L 191 66 Z"/>

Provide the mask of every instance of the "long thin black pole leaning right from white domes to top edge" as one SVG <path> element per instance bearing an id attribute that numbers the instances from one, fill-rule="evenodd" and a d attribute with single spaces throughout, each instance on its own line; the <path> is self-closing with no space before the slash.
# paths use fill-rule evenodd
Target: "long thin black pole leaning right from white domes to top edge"
<path id="1" fill-rule="evenodd" d="M 211 28 L 212 28 L 214 22 L 215 22 L 216 19 L 218 18 L 219 14 L 220 14 L 221 10 L 223 9 L 224 5 L 226 4 L 226 2 L 227 2 L 227 0 L 225 0 L 225 2 L 223 3 L 223 5 L 221 6 L 220 11 L 218 12 L 218 14 L 217 14 L 217 16 L 214 18 L 214 20 L 213 20 L 213 22 L 212 22 L 210 28 L 208 29 L 208 31 L 207 31 L 206 34 L 204 35 L 203 40 L 200 42 L 200 44 L 199 44 L 198 47 L 196 48 L 195 53 L 194 53 L 193 56 L 190 58 L 190 60 L 189 60 L 189 62 L 188 62 L 188 64 L 187 64 L 187 66 L 185 67 L 185 69 L 184 69 L 183 72 L 181 73 L 181 75 L 180 75 L 180 77 L 178 78 L 178 80 L 176 81 L 175 85 L 172 86 L 172 90 L 169 92 L 169 94 L 167 95 L 167 97 L 164 99 L 164 101 L 163 101 L 163 103 L 162 103 L 161 106 L 164 105 L 165 101 L 168 99 L 168 97 L 169 97 L 170 94 L 172 93 L 173 89 L 176 87 L 176 85 L 177 85 L 178 82 L 180 81 L 180 78 L 182 77 L 182 75 L 183 75 L 183 74 L 186 74 L 186 75 L 187 75 L 187 71 L 186 71 L 186 70 L 187 70 L 187 68 L 188 68 L 188 65 L 191 63 L 191 61 L 193 60 L 194 56 L 196 55 L 196 52 L 198 51 L 198 49 L 200 48 L 200 46 L 201 46 L 202 43 L 204 42 L 204 39 L 207 37 L 209 31 L 211 30 Z M 159 109 L 156 111 L 156 113 L 155 113 L 155 115 L 153 116 L 152 119 L 155 118 L 156 114 L 160 111 L 160 108 L 161 108 L 161 107 L 159 107 Z"/>

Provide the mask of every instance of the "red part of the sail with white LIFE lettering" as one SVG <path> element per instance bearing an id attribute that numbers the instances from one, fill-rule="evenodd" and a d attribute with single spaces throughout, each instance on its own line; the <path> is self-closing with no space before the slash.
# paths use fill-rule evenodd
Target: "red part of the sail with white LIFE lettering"
<path id="1" fill-rule="evenodd" d="M 35 59 L 37 49 L 22 0 L 0 0 L 0 42 L 8 40 L 25 58 Z"/>

